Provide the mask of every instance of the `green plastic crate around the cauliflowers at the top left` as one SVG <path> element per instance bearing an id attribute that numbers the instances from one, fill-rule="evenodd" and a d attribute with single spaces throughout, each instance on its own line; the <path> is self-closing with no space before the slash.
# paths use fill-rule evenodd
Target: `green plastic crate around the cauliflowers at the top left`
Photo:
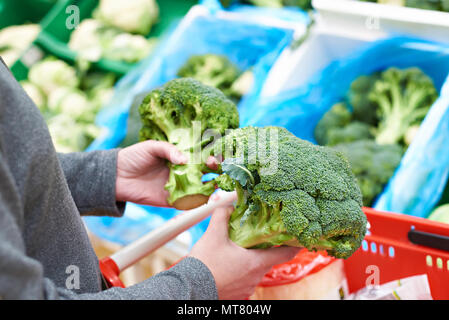
<path id="1" fill-rule="evenodd" d="M 189 9 L 197 4 L 194 0 L 159 0 L 159 22 L 153 26 L 147 37 L 161 36 L 175 21 L 180 20 Z M 80 22 L 90 18 L 93 10 L 98 6 L 98 0 L 61 0 L 46 17 L 43 30 L 38 37 L 38 43 L 53 55 L 70 61 L 76 59 L 76 52 L 68 47 L 68 41 L 73 29 L 66 27 L 67 18 L 72 11 L 69 6 L 75 5 L 79 8 Z M 67 9 L 69 8 L 69 10 Z M 117 74 L 126 74 L 136 64 L 121 61 L 101 59 L 95 63 L 98 68 L 112 71 Z"/>

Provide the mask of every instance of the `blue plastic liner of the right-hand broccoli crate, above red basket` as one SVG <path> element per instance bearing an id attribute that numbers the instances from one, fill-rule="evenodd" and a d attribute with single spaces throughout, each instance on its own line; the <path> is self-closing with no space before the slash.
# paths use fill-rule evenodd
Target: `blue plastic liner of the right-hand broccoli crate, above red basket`
<path id="1" fill-rule="evenodd" d="M 405 37 L 380 40 L 330 63 L 305 85 L 261 98 L 244 110 L 241 125 L 277 125 L 316 143 L 314 129 L 360 75 L 388 67 L 419 67 L 440 91 L 374 208 L 426 217 L 441 197 L 449 170 L 449 47 Z"/>

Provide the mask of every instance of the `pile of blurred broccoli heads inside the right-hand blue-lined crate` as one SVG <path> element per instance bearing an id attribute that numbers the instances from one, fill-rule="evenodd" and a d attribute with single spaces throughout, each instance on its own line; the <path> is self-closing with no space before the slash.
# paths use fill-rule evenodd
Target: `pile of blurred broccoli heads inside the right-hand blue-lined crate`
<path id="1" fill-rule="evenodd" d="M 372 205 L 394 174 L 437 97 L 422 70 L 391 67 L 354 80 L 343 101 L 318 122 L 317 143 L 346 155 L 365 206 Z"/>

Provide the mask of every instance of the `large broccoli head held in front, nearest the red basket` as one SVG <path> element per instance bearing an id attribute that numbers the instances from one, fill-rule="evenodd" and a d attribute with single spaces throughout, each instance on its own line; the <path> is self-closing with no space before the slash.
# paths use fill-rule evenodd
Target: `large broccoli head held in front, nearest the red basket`
<path id="1" fill-rule="evenodd" d="M 361 245 L 362 195 L 340 153 L 277 127 L 232 130 L 214 150 L 224 159 L 218 186 L 237 191 L 229 236 L 238 245 L 305 247 L 337 258 Z"/>

